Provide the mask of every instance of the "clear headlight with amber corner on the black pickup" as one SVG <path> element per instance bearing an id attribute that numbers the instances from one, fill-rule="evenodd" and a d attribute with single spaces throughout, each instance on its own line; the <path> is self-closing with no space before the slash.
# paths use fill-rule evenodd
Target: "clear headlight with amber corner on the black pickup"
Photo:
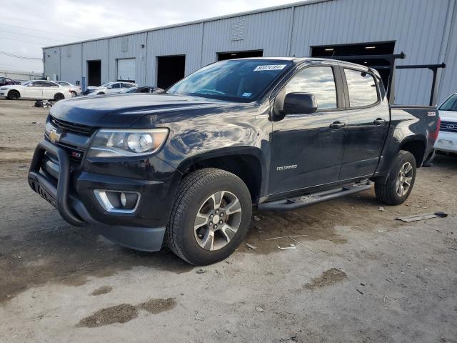
<path id="1" fill-rule="evenodd" d="M 88 157 L 144 156 L 159 150 L 168 129 L 102 129 L 91 143 Z"/>

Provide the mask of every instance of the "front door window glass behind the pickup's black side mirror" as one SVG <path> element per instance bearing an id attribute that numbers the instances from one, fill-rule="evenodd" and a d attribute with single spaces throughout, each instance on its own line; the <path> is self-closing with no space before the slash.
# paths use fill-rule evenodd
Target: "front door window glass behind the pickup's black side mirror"
<path id="1" fill-rule="evenodd" d="M 310 66 L 301 69 L 283 89 L 292 92 L 312 93 L 318 109 L 336 109 L 336 84 L 331 66 Z"/>

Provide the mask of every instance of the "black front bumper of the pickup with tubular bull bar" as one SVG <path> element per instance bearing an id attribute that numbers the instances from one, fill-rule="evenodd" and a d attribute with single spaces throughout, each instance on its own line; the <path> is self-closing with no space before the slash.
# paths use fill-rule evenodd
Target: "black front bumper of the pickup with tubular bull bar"
<path id="1" fill-rule="evenodd" d="M 45 154 L 49 153 L 59 161 L 58 178 L 54 179 L 43 169 Z M 104 237 L 131 249 L 154 252 L 161 249 L 165 234 L 166 211 L 162 217 L 145 218 L 145 211 L 137 211 L 129 216 L 107 214 L 101 209 L 93 189 L 112 189 L 141 191 L 144 194 L 163 194 L 162 182 L 151 182 L 125 179 L 120 177 L 105 177 L 100 174 L 83 172 L 77 179 L 71 177 L 71 163 L 67 151 L 49 141 L 41 141 L 36 146 L 31 161 L 28 177 L 29 185 L 59 211 L 62 218 L 71 225 L 94 227 Z M 156 193 L 157 194 L 157 193 Z M 143 197 L 146 202 L 151 198 Z M 163 199 L 157 199 L 159 201 Z M 146 207 L 154 204 L 144 204 Z M 145 209 L 147 211 L 147 209 Z M 161 224 L 149 227 L 146 222 Z M 131 225 L 129 223 L 133 223 Z"/>

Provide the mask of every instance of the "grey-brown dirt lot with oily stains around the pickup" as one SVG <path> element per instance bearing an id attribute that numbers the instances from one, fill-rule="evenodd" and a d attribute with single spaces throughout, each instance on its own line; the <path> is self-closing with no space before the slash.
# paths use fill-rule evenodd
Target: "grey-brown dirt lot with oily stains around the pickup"
<path id="1" fill-rule="evenodd" d="M 201 269 L 71 227 L 34 194 L 48 110 L 32 105 L 0 100 L 0 342 L 457 342 L 456 157 L 385 211 L 364 192 L 257 213 L 257 249 Z"/>

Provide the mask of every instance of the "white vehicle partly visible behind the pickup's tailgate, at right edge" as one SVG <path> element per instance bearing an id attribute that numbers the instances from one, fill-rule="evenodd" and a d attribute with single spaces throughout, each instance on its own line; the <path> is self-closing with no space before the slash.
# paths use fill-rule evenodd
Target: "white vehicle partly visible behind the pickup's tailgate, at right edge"
<path id="1" fill-rule="evenodd" d="M 452 94 L 438 107 L 441 125 L 435 149 L 457 153 L 457 93 Z"/>

